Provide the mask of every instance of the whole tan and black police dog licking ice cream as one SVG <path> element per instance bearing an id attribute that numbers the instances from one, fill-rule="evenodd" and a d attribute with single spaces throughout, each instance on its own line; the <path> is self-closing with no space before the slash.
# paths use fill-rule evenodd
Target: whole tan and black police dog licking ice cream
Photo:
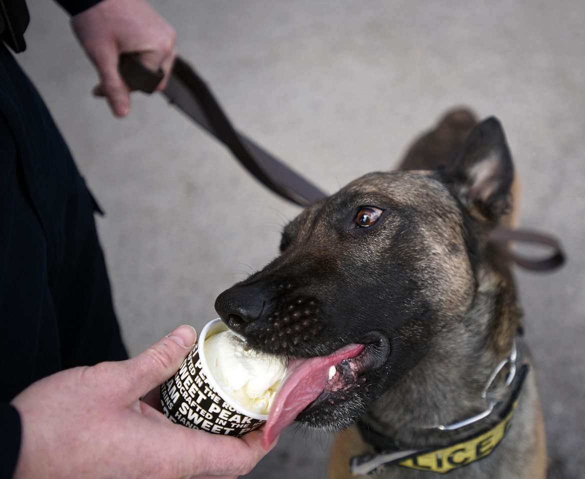
<path id="1" fill-rule="evenodd" d="M 395 171 L 308 206 L 280 256 L 215 308 L 289 359 L 264 427 L 336 433 L 332 478 L 542 479 L 536 373 L 509 261 L 515 222 L 500 122 L 449 112 Z"/>

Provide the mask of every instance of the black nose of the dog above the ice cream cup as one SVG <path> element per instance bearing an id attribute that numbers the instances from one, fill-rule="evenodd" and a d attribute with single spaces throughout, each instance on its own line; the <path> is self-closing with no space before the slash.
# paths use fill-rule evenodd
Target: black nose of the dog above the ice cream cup
<path id="1" fill-rule="evenodd" d="M 235 285 L 223 291 L 215 300 L 215 311 L 222 321 L 240 333 L 247 324 L 260 318 L 263 307 L 263 296 L 254 287 Z"/>

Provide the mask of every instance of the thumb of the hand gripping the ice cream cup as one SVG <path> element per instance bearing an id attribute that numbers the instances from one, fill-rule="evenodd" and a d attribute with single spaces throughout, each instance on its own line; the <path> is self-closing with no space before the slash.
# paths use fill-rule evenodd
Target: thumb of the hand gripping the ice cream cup
<path id="1" fill-rule="evenodd" d="M 170 335 L 147 347 L 138 356 L 124 361 L 128 381 L 128 394 L 134 401 L 175 374 L 197 340 L 197 332 L 183 325 Z"/>

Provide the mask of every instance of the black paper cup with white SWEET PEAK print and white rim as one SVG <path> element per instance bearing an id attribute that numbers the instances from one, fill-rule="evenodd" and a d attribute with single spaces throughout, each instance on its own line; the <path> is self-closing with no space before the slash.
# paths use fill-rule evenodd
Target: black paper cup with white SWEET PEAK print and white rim
<path id="1" fill-rule="evenodd" d="M 203 343 L 209 336 L 226 330 L 217 318 L 201 330 L 199 342 L 177 373 L 160 386 L 164 415 L 188 428 L 240 437 L 258 429 L 268 415 L 238 404 L 213 378 L 205 359 Z"/>

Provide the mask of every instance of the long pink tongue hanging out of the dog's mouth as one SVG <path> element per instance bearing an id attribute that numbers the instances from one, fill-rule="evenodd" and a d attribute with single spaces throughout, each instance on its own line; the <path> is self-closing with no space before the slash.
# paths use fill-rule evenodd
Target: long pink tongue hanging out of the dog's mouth
<path id="1" fill-rule="evenodd" d="M 298 413 L 323 392 L 329 379 L 329 368 L 344 359 L 356 357 L 364 347 L 364 344 L 347 344 L 329 356 L 288 361 L 287 373 L 263 428 L 261 444 L 264 449 L 268 449 L 274 439 L 297 418 Z"/>

